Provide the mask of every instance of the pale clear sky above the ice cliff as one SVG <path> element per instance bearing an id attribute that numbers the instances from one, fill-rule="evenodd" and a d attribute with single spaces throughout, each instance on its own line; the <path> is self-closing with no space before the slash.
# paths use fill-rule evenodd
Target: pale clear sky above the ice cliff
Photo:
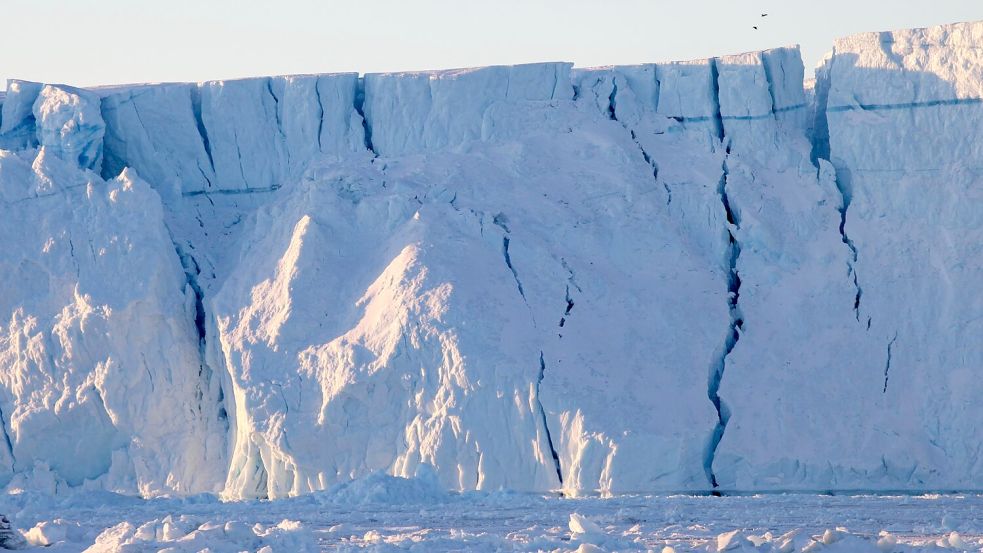
<path id="1" fill-rule="evenodd" d="M 629 64 L 795 43 L 811 72 L 837 36 L 983 19 L 983 0 L 4 0 L 0 18 L 0 82 L 85 86 Z"/>

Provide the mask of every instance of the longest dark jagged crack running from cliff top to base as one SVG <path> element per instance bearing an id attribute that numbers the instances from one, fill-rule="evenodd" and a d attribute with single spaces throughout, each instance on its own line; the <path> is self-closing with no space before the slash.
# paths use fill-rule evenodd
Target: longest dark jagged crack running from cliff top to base
<path id="1" fill-rule="evenodd" d="M 712 77 L 712 101 L 714 103 L 715 111 L 714 121 L 718 125 L 716 128 L 717 134 L 723 141 L 723 117 L 720 112 L 720 87 L 719 83 L 717 82 L 718 73 L 716 60 L 711 60 L 710 73 Z M 730 176 L 727 166 L 727 156 L 730 155 L 730 147 L 726 146 L 725 151 L 726 153 L 723 162 L 721 163 L 721 175 L 720 182 L 717 186 L 717 192 L 720 195 L 720 203 L 723 205 L 724 213 L 727 216 L 727 310 L 730 318 L 730 327 L 728 329 L 727 336 L 724 339 L 723 351 L 710 368 L 707 397 L 710 399 L 710 402 L 713 404 L 713 408 L 717 412 L 717 424 L 714 426 L 713 433 L 710 436 L 710 442 L 707 445 L 706 455 L 703 461 L 703 469 L 706 472 L 707 479 L 714 490 L 719 487 L 719 483 L 717 482 L 717 475 L 713 472 L 713 461 L 717 454 L 717 447 L 720 445 L 720 441 L 724 437 L 727 422 L 730 420 L 730 409 L 720 398 L 720 383 L 724 377 L 727 357 L 732 351 L 734 351 L 738 340 L 741 339 L 741 330 L 744 327 L 744 319 L 738 305 L 741 293 L 741 277 L 737 270 L 737 263 L 741 256 L 741 246 L 738 243 L 737 236 L 735 234 L 735 232 L 740 228 L 741 222 L 738 214 L 731 208 L 730 198 L 727 195 L 727 179 Z M 717 494 L 719 494 L 719 492 L 714 491 L 714 495 Z"/>

